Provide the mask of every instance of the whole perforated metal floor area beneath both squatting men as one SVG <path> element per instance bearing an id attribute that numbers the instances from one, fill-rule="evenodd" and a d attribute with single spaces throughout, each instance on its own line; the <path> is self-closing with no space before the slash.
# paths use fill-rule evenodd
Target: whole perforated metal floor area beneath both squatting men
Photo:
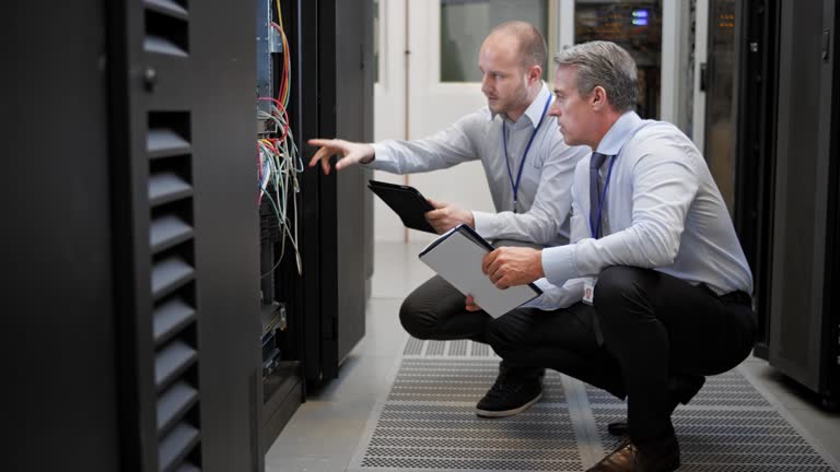
<path id="1" fill-rule="evenodd" d="M 582 471 L 618 440 L 607 423 L 625 403 L 547 371 L 529 410 L 479 418 L 475 404 L 493 384 L 499 357 L 471 341 L 409 339 L 387 398 L 371 413 L 350 471 Z M 674 414 L 680 471 L 840 472 L 783 409 L 740 369 L 710 377 Z"/>

